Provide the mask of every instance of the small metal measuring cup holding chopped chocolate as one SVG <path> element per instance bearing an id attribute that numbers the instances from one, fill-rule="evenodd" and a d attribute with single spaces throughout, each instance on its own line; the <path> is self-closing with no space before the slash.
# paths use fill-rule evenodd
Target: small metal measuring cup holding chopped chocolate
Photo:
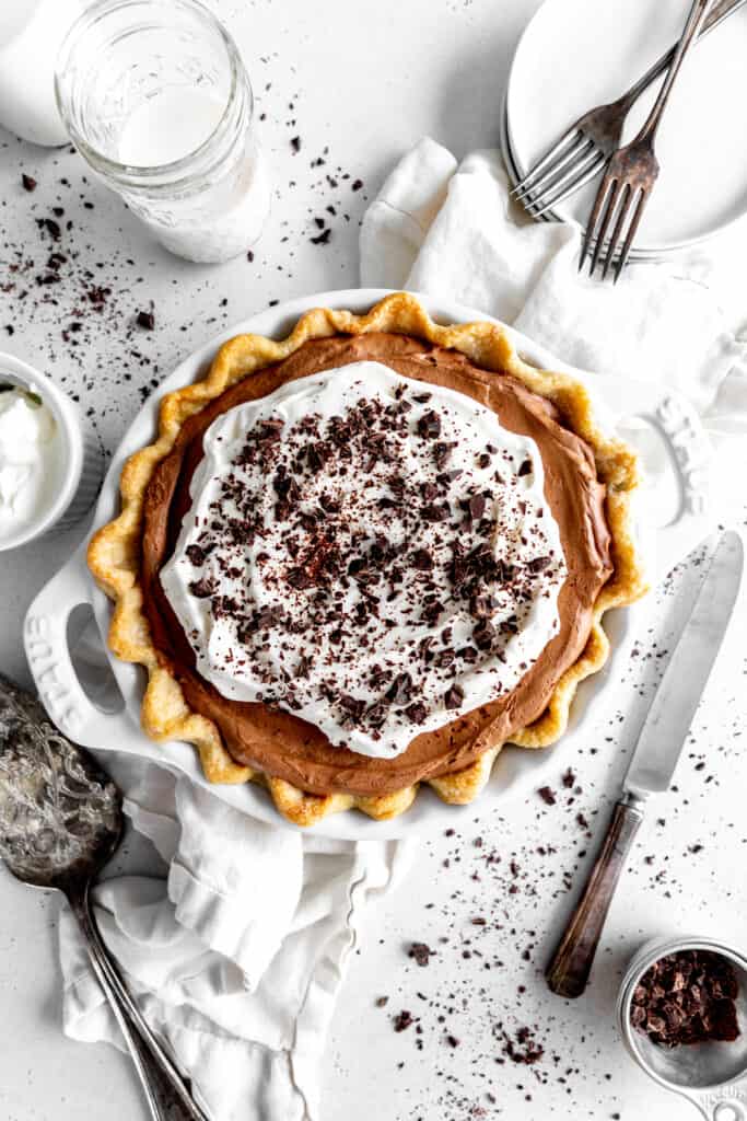
<path id="1" fill-rule="evenodd" d="M 671 1050 L 659 1047 L 631 1022 L 633 993 L 655 962 L 682 949 L 711 949 L 732 963 L 739 981 L 737 1016 L 741 1035 L 734 1043 L 704 1043 Z M 665 1090 L 681 1094 L 708 1121 L 747 1121 L 747 957 L 715 938 L 654 938 L 631 962 L 617 998 L 623 1041 L 638 1066 Z"/>

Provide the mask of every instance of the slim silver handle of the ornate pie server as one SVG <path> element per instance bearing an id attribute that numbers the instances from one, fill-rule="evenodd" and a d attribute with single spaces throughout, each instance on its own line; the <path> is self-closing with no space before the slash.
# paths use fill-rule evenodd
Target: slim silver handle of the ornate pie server
<path id="1" fill-rule="evenodd" d="M 153 1121 L 208 1121 L 193 1101 L 176 1066 L 148 1027 L 101 938 L 87 883 L 65 891 L 85 938 L 93 972 L 116 1017 Z"/>

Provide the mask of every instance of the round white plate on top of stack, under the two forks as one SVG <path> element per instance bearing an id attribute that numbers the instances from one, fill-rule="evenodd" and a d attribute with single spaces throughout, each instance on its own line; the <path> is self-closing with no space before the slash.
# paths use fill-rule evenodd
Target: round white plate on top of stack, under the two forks
<path id="1" fill-rule="evenodd" d="M 679 37 L 691 0 L 545 0 L 511 70 L 511 147 L 523 175 L 594 105 L 614 101 Z M 638 250 L 661 256 L 709 238 L 747 212 L 747 8 L 685 59 L 656 151 L 661 173 L 638 232 Z M 661 80 L 660 80 L 661 81 Z M 657 84 L 632 110 L 624 139 L 643 123 Z M 592 179 L 554 209 L 585 224 Z"/>

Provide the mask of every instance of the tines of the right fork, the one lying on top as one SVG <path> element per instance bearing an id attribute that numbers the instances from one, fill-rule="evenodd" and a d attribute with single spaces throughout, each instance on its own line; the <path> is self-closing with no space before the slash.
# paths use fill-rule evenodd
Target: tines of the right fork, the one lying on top
<path id="1" fill-rule="evenodd" d="M 613 160 L 615 163 L 615 160 Z M 586 228 L 586 237 L 579 260 L 579 271 L 591 253 L 589 276 L 594 276 L 597 265 L 601 266 L 601 279 L 613 269 L 614 282 L 617 284 L 631 253 L 643 211 L 648 198 L 648 187 L 625 179 L 614 167 L 601 180 L 591 211 L 591 217 Z M 614 225 L 613 225 L 614 221 Z M 613 232 L 605 245 L 607 231 L 613 225 Z M 620 239 L 625 235 L 622 249 Z M 594 250 L 591 247 L 594 245 Z"/>

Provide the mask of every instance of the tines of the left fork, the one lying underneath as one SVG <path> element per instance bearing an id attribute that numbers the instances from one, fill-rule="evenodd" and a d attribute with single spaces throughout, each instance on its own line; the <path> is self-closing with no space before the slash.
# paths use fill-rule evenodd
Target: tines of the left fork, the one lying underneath
<path id="1" fill-rule="evenodd" d="M 532 217 L 541 217 L 594 178 L 605 160 L 594 140 L 573 126 L 511 193 Z"/>

